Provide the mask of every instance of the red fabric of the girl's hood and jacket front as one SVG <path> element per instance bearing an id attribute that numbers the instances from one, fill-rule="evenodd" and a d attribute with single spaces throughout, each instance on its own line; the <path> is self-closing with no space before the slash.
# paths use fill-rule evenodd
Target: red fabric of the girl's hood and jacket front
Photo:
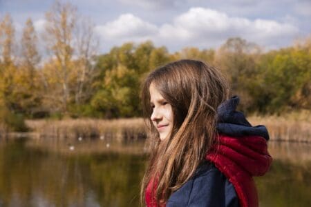
<path id="1" fill-rule="evenodd" d="M 267 141 L 259 136 L 229 137 L 220 135 L 218 144 L 205 157 L 233 184 L 242 207 L 257 207 L 258 196 L 253 176 L 264 175 L 272 163 L 267 152 Z M 145 201 L 148 207 L 164 207 L 156 203 L 158 181 L 149 182 Z M 153 193 L 152 193 L 153 192 Z M 153 195 L 153 196 L 151 196 Z"/>

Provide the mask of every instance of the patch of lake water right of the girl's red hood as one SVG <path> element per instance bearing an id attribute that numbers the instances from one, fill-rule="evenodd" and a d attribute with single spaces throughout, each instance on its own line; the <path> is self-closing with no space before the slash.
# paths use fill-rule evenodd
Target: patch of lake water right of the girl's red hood
<path id="1" fill-rule="evenodd" d="M 311 206 L 311 144 L 270 142 L 270 171 L 256 178 L 260 206 Z"/>

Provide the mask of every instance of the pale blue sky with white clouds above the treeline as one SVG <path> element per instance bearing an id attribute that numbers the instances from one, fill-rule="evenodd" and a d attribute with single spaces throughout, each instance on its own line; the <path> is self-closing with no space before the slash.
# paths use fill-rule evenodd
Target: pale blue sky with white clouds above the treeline
<path id="1" fill-rule="evenodd" d="M 291 46 L 311 34 L 311 0 L 68 0 L 90 18 L 100 51 L 151 40 L 170 52 L 185 47 L 218 48 L 241 37 L 266 50 Z M 53 0 L 0 0 L 0 18 L 9 13 L 21 34 L 30 17 L 38 33 Z"/>

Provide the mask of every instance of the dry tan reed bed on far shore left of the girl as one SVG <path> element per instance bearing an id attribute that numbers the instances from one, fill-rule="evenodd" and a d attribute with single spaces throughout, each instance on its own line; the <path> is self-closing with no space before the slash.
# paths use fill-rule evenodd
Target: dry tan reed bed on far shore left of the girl
<path id="1" fill-rule="evenodd" d="M 141 118 L 27 120 L 26 124 L 30 129 L 37 132 L 37 137 L 100 138 L 117 141 L 146 138 L 146 129 Z"/>

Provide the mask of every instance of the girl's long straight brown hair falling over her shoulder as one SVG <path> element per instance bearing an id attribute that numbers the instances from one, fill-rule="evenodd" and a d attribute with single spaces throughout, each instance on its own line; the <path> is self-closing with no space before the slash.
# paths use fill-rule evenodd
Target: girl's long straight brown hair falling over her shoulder
<path id="1" fill-rule="evenodd" d="M 173 108 L 173 129 L 163 141 L 150 119 L 151 83 Z M 144 118 L 149 120 L 151 156 L 142 179 L 142 204 L 149 182 L 156 180 L 152 196 L 161 204 L 194 175 L 216 141 L 216 110 L 227 98 L 228 87 L 223 76 L 202 61 L 183 59 L 149 74 L 142 85 L 142 108 Z"/>

